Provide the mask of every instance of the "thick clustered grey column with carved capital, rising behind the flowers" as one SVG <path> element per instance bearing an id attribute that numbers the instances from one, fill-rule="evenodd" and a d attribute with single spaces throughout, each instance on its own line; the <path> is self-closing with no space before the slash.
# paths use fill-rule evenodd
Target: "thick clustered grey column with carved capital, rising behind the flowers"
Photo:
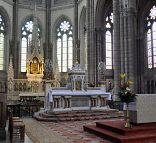
<path id="1" fill-rule="evenodd" d="M 131 87 L 136 88 L 136 0 L 120 0 L 120 46 L 121 73 L 126 73 L 126 79 L 134 81 Z"/>

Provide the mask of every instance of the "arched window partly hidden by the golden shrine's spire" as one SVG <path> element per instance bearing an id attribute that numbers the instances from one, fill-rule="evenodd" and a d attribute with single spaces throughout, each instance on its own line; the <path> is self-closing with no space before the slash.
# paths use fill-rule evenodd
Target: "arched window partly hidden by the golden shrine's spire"
<path id="1" fill-rule="evenodd" d="M 33 20 L 32 18 L 26 21 L 22 26 L 22 39 L 21 39 L 21 72 L 26 72 L 26 58 L 28 48 L 32 42 Z M 38 40 L 40 45 L 40 28 L 38 28 Z"/>

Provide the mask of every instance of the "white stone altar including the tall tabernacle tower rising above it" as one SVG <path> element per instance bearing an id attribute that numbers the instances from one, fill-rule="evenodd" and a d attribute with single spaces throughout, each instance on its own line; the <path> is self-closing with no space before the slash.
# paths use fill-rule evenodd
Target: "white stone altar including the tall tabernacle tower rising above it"
<path id="1" fill-rule="evenodd" d="M 68 83 L 64 88 L 51 87 L 46 81 L 45 109 L 53 111 L 106 109 L 107 98 L 111 93 L 102 87 L 88 87 L 85 71 L 76 62 L 68 70 Z"/>

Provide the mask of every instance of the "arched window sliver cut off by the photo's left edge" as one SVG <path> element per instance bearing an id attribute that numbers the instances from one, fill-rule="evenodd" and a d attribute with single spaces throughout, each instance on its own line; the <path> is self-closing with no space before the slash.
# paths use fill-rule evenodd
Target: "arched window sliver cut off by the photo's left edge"
<path id="1" fill-rule="evenodd" d="M 5 23 L 0 14 L 0 70 L 4 70 L 4 39 L 5 39 Z"/>

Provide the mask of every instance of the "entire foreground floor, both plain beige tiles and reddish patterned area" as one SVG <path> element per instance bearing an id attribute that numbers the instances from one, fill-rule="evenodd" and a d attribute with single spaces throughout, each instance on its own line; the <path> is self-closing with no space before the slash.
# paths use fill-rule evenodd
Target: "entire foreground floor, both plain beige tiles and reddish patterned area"
<path id="1" fill-rule="evenodd" d="M 96 121 L 54 123 L 24 119 L 26 132 L 34 143 L 110 143 L 83 131 L 83 125 L 94 124 Z"/>

